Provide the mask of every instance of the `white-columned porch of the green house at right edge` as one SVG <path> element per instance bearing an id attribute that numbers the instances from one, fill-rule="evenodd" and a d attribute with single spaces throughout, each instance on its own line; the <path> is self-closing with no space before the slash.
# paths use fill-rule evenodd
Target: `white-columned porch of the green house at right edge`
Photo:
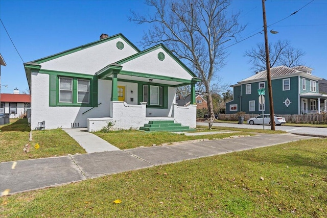
<path id="1" fill-rule="evenodd" d="M 321 114 L 327 113 L 327 94 L 301 94 L 300 95 L 301 114 Z"/>

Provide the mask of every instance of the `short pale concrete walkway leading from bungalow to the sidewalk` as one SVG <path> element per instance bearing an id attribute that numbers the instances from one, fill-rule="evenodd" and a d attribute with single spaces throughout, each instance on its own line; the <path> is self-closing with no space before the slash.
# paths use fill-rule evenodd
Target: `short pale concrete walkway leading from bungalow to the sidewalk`
<path id="1" fill-rule="evenodd" d="M 87 132 L 87 128 L 69 128 L 62 130 L 74 138 L 87 153 L 120 150 L 95 134 Z"/>

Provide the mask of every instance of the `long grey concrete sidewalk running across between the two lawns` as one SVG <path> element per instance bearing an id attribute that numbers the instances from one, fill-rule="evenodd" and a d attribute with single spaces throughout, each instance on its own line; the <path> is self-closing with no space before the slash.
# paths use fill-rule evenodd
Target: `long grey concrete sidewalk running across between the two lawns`
<path id="1" fill-rule="evenodd" d="M 68 132 L 72 133 L 71 131 Z M 76 137 L 78 135 L 77 132 L 75 140 L 81 141 L 81 138 Z M 81 135 L 82 137 L 85 135 L 91 137 L 89 134 Z M 0 163 L 0 193 L 1 195 L 8 195 L 161 164 L 273 146 L 308 138 L 312 137 L 289 133 L 263 134 L 167 146 L 2 162 Z"/>

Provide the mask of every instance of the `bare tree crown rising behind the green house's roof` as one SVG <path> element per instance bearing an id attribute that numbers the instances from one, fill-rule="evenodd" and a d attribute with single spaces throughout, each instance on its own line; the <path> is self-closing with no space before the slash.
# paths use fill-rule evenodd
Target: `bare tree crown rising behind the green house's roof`
<path id="1" fill-rule="evenodd" d="M 301 60 L 301 57 L 304 55 L 305 52 L 292 47 L 288 40 L 278 40 L 273 45 L 269 43 L 270 67 L 277 65 L 288 67 L 304 65 Z M 252 69 L 254 71 L 266 69 L 266 51 L 264 43 L 256 44 L 256 47 L 252 47 L 251 50 L 246 51 L 244 56 L 250 58 L 249 62 L 252 63 Z"/>

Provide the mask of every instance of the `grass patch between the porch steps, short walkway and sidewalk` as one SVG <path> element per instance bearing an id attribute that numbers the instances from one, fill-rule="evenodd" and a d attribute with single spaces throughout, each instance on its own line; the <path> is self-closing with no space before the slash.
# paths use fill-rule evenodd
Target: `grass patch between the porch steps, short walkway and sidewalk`
<path id="1" fill-rule="evenodd" d="M 171 132 L 145 132 L 138 130 L 120 130 L 110 132 L 94 132 L 95 135 L 113 144 L 119 149 L 132 149 L 137 147 L 150 147 L 153 144 L 159 145 L 161 143 L 171 143 L 177 141 L 187 141 L 195 139 L 213 139 L 213 138 L 225 138 L 232 135 L 253 135 L 249 132 L 233 132 L 222 133 L 214 135 L 198 135 L 198 136 L 186 136 Z"/>

